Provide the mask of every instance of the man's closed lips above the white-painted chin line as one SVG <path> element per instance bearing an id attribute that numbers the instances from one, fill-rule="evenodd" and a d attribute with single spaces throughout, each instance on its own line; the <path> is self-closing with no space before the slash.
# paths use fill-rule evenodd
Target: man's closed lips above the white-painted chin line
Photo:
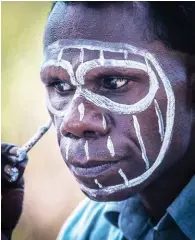
<path id="1" fill-rule="evenodd" d="M 74 166 L 74 165 L 69 165 L 71 171 L 80 177 L 97 177 L 107 171 L 110 171 L 118 161 L 113 161 L 113 162 L 104 162 L 104 163 L 96 163 L 94 164 L 87 164 L 86 166 Z"/>

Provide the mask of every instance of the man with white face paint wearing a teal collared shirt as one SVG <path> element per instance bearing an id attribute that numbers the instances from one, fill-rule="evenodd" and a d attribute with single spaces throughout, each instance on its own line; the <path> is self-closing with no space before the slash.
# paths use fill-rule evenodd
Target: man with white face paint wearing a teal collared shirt
<path id="1" fill-rule="evenodd" d="M 91 199 L 58 239 L 195 239 L 194 13 L 54 4 L 41 80 L 64 161 Z"/>

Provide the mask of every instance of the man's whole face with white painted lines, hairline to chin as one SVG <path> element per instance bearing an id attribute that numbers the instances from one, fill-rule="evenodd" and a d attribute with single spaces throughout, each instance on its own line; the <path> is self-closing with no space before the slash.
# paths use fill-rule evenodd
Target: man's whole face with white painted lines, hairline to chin
<path id="1" fill-rule="evenodd" d="M 142 3 L 58 3 L 47 23 L 48 110 L 64 161 L 95 200 L 141 191 L 189 145 L 186 58 L 149 41 L 148 23 Z"/>

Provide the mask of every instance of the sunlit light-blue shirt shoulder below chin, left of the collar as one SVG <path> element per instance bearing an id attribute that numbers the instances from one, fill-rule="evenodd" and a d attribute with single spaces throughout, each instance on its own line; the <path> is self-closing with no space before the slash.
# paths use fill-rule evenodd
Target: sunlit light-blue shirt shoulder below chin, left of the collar
<path id="1" fill-rule="evenodd" d="M 105 218 L 105 209 L 106 203 L 83 200 L 61 228 L 57 240 L 100 240 L 108 239 L 109 234 L 119 234 Z"/>

